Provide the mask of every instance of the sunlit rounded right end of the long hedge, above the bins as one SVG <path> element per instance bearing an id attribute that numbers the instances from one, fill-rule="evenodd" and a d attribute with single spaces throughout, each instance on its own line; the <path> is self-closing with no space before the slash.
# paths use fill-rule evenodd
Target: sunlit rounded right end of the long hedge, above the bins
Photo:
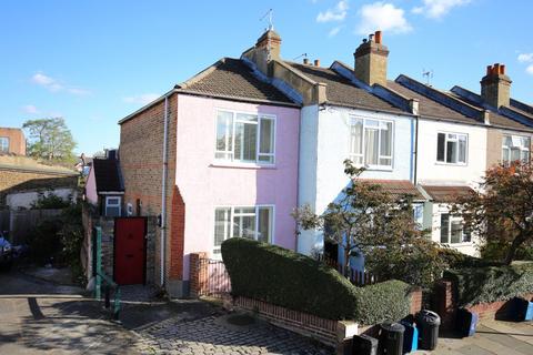
<path id="1" fill-rule="evenodd" d="M 410 313 L 411 286 L 404 282 L 392 280 L 356 290 L 355 320 L 361 324 L 398 322 Z"/>

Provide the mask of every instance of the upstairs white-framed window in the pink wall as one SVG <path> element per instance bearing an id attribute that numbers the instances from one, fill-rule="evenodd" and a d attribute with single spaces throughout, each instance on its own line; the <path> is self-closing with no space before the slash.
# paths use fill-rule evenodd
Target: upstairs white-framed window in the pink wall
<path id="1" fill-rule="evenodd" d="M 274 164 L 274 116 L 218 111 L 214 158 Z"/>

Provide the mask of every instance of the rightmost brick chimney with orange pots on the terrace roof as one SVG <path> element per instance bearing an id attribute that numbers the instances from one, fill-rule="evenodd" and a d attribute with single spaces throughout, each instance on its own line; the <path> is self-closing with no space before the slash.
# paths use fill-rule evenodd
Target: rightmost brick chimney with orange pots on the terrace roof
<path id="1" fill-rule="evenodd" d="M 509 106 L 511 101 L 511 78 L 505 74 L 505 65 L 495 63 L 486 67 L 486 75 L 481 80 L 481 98 L 487 104 Z"/>

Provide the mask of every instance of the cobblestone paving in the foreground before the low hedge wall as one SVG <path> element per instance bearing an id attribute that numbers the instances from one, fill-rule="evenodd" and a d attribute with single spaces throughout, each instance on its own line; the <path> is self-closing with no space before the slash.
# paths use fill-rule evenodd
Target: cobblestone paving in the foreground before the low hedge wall
<path id="1" fill-rule="evenodd" d="M 258 322 L 232 326 L 223 316 L 174 317 L 139 331 L 141 354 L 333 354 L 294 333 Z"/>

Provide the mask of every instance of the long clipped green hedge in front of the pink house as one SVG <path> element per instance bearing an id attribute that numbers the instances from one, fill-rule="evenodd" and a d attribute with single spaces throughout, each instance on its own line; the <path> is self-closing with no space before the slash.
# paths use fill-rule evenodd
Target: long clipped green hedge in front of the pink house
<path id="1" fill-rule="evenodd" d="M 223 242 L 222 258 L 234 295 L 361 324 L 398 321 L 409 314 L 409 285 L 400 281 L 354 287 L 311 257 L 245 239 Z"/>

